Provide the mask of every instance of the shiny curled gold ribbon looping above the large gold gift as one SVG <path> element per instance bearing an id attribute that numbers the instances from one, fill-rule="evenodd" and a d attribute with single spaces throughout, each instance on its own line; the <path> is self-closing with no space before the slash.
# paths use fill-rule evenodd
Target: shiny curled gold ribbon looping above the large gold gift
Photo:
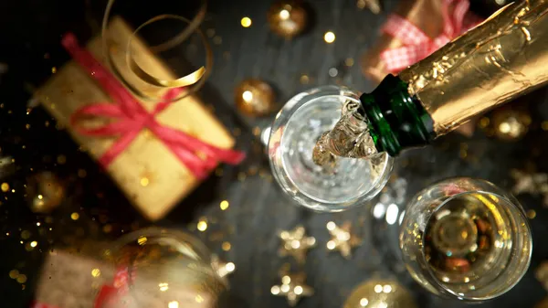
<path id="1" fill-rule="evenodd" d="M 114 5 L 115 0 L 109 0 L 107 3 L 107 6 L 105 8 L 105 14 L 103 16 L 102 20 L 102 29 L 101 29 L 101 37 L 103 41 L 103 53 L 105 54 L 105 58 L 107 60 L 107 63 L 111 69 L 111 71 L 116 75 L 123 85 L 131 90 L 135 95 L 141 97 L 144 100 L 147 101 L 156 101 L 157 98 L 151 98 L 147 95 L 143 94 L 141 90 L 134 87 L 130 82 L 125 80 L 123 78 L 123 74 L 121 74 L 121 71 L 117 68 L 117 66 L 114 63 L 114 60 L 111 58 L 111 53 L 109 50 L 109 42 L 108 42 L 108 24 L 111 16 L 111 8 L 112 5 Z M 181 95 L 175 97 L 172 101 L 179 101 L 182 98 L 191 95 L 195 93 L 197 90 L 199 90 L 205 83 L 205 80 L 207 80 L 207 77 L 209 76 L 211 72 L 211 68 L 213 66 L 213 51 L 211 50 L 211 47 L 207 43 L 207 39 L 205 38 L 204 33 L 199 29 L 199 26 L 201 25 L 202 21 L 205 18 L 205 11 L 206 11 L 206 5 L 205 0 L 200 0 L 202 5 L 200 5 L 200 8 L 197 12 L 197 14 L 192 18 L 192 20 L 189 20 L 187 18 L 184 18 L 183 16 L 176 16 L 176 15 L 161 15 L 161 16 L 154 16 L 153 18 L 147 20 L 144 22 L 141 26 L 137 27 L 135 31 L 132 33 L 132 36 L 130 37 L 128 41 L 128 48 L 126 51 L 126 65 L 128 68 L 132 71 L 135 76 L 137 76 L 140 80 L 151 84 L 158 88 L 163 89 L 174 89 L 174 88 L 182 88 L 182 87 L 188 87 L 193 85 L 192 87 L 186 88 L 184 91 L 181 91 Z M 203 46 L 205 48 L 205 66 L 200 67 L 199 69 L 196 69 L 192 73 L 185 75 L 181 78 L 177 78 L 175 80 L 164 80 L 157 78 L 148 72 L 146 72 L 144 69 L 142 69 L 139 64 L 135 61 L 135 58 L 132 55 L 132 40 L 135 36 L 137 36 L 138 32 L 142 29 L 142 27 L 146 27 L 150 24 L 153 24 L 154 22 L 163 20 L 163 19 L 175 19 L 180 20 L 184 23 L 187 23 L 188 26 L 184 28 L 184 30 L 177 34 L 175 37 L 167 40 L 166 42 L 163 42 L 162 44 L 149 47 L 149 50 L 151 50 L 153 53 L 159 53 L 164 50 L 174 48 L 174 46 L 182 43 L 185 39 L 190 37 L 195 32 L 199 35 L 200 39 L 202 40 Z"/>

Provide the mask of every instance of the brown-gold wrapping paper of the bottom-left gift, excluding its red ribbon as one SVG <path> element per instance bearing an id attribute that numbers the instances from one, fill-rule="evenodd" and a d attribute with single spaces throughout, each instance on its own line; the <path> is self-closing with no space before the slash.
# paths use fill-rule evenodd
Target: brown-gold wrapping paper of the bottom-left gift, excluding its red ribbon
<path id="1" fill-rule="evenodd" d="M 115 268 L 106 260 L 70 253 L 68 250 L 54 250 L 48 253 L 44 262 L 37 282 L 35 300 L 37 303 L 59 308 L 165 308 L 172 302 L 177 302 L 179 307 L 184 308 L 209 308 L 216 302 L 216 296 L 209 292 L 198 292 L 195 288 L 181 285 L 163 293 L 159 290 L 162 281 L 157 281 L 152 276 L 136 276 L 138 281 L 132 285 L 134 292 L 122 296 L 119 301 L 95 307 L 100 288 L 112 286 L 114 274 Z M 199 300 L 196 301 L 196 298 Z M 121 305 L 121 301 L 125 299 L 133 301 Z"/>

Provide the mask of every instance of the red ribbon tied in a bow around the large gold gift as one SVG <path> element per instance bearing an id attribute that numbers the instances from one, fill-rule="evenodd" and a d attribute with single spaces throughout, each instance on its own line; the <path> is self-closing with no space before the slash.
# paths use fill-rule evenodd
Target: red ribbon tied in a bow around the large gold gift
<path id="1" fill-rule="evenodd" d="M 168 90 L 153 112 L 148 112 L 121 83 L 105 69 L 85 48 L 79 47 L 76 37 L 68 33 L 62 38 L 62 45 L 70 56 L 97 80 L 115 103 L 94 103 L 80 108 L 70 118 L 70 124 L 78 133 L 95 137 L 119 136 L 111 148 L 100 159 L 100 165 L 107 167 L 132 143 L 133 139 L 145 128 L 149 129 L 181 161 L 190 172 L 199 179 L 205 178 L 218 162 L 231 165 L 239 164 L 245 154 L 230 149 L 221 149 L 181 131 L 167 127 L 156 121 L 155 116 L 163 112 L 182 89 Z M 79 120 L 89 117 L 104 117 L 118 120 L 99 128 L 84 128 Z M 199 154 L 203 154 L 200 158 Z"/>

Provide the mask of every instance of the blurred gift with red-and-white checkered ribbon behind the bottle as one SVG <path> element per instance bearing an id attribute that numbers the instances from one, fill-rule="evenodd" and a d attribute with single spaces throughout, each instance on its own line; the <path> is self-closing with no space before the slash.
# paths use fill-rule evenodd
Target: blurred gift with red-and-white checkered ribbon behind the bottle
<path id="1" fill-rule="evenodd" d="M 381 28 L 381 37 L 361 58 L 364 75 L 378 83 L 427 58 L 432 52 L 479 24 L 469 0 L 402 1 Z M 471 135 L 474 124 L 458 128 Z"/>

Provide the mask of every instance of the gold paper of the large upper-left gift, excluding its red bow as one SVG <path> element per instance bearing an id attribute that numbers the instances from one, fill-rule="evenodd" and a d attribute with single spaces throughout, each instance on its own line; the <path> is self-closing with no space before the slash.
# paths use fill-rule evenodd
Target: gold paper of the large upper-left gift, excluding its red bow
<path id="1" fill-rule="evenodd" d="M 132 28 L 128 27 L 121 18 L 112 19 L 109 40 L 111 48 L 115 48 L 113 61 L 116 63 L 125 63 L 125 48 L 132 32 Z M 174 79 L 173 73 L 160 59 L 153 56 L 142 40 L 134 37 L 132 47 L 133 54 L 139 59 L 143 69 L 147 69 L 154 76 Z M 105 63 L 100 37 L 92 39 L 88 49 L 102 63 Z M 129 69 L 125 65 L 117 65 L 117 67 L 121 70 Z M 123 73 L 122 76 L 127 76 L 126 81 L 143 92 L 154 91 L 151 96 L 160 96 L 156 93 L 157 88 L 139 80 L 135 75 L 127 71 L 121 71 L 121 73 Z M 82 106 L 111 101 L 95 80 L 92 80 L 74 61 L 58 69 L 57 74 L 37 90 L 37 98 L 47 112 L 67 127 L 68 133 L 95 159 L 107 151 L 115 141 L 114 138 L 84 136 L 70 128 L 70 115 Z M 142 105 L 151 111 L 154 104 L 150 101 L 142 101 Z M 174 129 L 195 135 L 205 143 L 221 148 L 231 148 L 235 143 L 224 126 L 194 95 L 174 102 L 164 112 L 158 114 L 156 119 Z M 94 121 L 104 123 L 101 119 Z M 156 139 L 153 133 L 147 130 L 143 130 L 112 162 L 108 171 L 132 204 L 150 220 L 163 218 L 182 197 L 199 184 L 194 175 L 163 145 L 162 141 Z"/>

